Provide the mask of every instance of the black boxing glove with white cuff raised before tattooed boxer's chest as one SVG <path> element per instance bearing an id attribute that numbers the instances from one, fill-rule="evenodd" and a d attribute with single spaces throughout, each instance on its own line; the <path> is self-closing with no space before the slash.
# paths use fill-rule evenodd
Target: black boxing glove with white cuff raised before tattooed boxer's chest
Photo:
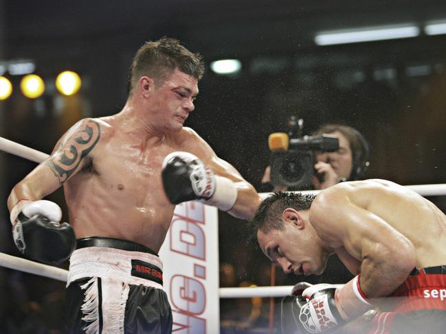
<path id="1" fill-rule="evenodd" d="M 228 211 L 237 199 L 236 185 L 232 180 L 214 175 L 197 156 L 188 152 L 168 154 L 164 158 L 161 178 L 172 204 L 200 200 Z"/>

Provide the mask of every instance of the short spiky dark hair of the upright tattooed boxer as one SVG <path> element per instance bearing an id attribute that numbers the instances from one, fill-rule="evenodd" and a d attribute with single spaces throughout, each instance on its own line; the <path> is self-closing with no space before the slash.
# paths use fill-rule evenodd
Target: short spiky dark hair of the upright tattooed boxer
<path id="1" fill-rule="evenodd" d="M 200 80 L 204 73 L 203 58 L 199 53 L 192 53 L 183 47 L 175 38 L 163 37 L 155 42 L 144 43 L 135 53 L 129 69 L 129 95 L 133 94 L 133 89 L 143 75 L 152 77 L 155 82 L 162 82 L 176 68 Z"/>

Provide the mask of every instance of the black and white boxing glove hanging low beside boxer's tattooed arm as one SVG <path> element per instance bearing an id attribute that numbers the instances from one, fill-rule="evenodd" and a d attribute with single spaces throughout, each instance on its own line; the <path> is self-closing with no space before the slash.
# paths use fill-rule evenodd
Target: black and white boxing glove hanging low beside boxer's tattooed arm
<path id="1" fill-rule="evenodd" d="M 47 200 L 21 200 L 12 208 L 12 237 L 17 248 L 30 259 L 43 263 L 66 261 L 76 248 L 73 228 L 60 224 L 60 207 Z"/>

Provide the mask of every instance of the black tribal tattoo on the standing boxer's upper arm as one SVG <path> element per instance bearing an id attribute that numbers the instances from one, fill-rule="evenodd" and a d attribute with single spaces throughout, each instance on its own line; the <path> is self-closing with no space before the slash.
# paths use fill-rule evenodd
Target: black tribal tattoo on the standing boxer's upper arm
<path id="1" fill-rule="evenodd" d="M 85 119 L 60 143 L 56 151 L 58 154 L 45 161 L 45 165 L 53 171 L 60 185 L 76 171 L 82 159 L 93 150 L 99 139 L 99 123 L 93 119 Z"/>

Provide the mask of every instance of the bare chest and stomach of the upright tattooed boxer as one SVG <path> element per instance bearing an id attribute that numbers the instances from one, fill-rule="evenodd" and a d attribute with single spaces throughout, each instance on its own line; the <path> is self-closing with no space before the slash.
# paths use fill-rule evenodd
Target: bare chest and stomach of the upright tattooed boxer
<path id="1" fill-rule="evenodd" d="M 91 161 L 65 184 L 76 235 L 129 239 L 157 250 L 175 208 L 164 193 L 161 167 L 178 149 L 164 141 L 104 134 L 87 157 Z"/>

